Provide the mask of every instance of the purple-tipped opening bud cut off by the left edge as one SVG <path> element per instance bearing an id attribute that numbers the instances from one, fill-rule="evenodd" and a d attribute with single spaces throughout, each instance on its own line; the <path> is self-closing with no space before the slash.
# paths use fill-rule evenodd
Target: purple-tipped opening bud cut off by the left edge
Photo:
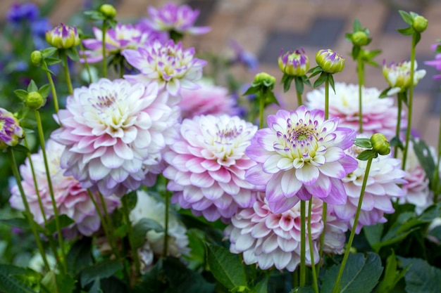
<path id="1" fill-rule="evenodd" d="M 0 150 L 13 147 L 25 137 L 18 119 L 4 108 L 0 108 Z"/>

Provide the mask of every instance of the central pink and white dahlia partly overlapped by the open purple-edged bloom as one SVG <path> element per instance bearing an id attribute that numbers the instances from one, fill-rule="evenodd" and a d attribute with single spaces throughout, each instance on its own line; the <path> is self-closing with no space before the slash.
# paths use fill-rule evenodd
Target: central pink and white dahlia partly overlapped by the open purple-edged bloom
<path id="1" fill-rule="evenodd" d="M 185 119 L 180 141 L 164 154 L 170 166 L 163 175 L 170 179 L 172 202 L 196 216 L 224 222 L 240 207 L 250 207 L 256 194 L 244 177 L 255 163 L 245 155 L 245 148 L 256 130 L 253 124 L 228 115 Z"/>

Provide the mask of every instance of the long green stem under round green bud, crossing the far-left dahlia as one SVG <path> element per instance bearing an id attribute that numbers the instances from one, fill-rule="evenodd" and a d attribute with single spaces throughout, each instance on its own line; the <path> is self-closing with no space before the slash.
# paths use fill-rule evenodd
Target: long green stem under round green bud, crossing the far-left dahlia
<path id="1" fill-rule="evenodd" d="M 54 188 L 52 187 L 52 181 L 51 181 L 51 173 L 49 170 L 49 163 L 46 155 L 46 147 L 44 144 L 44 132 L 43 132 L 43 125 L 42 125 L 42 118 L 40 117 L 39 111 L 35 110 L 35 119 L 37 120 L 37 129 L 38 129 L 38 136 L 40 140 L 40 146 L 42 148 L 42 154 L 44 159 L 44 168 L 46 169 L 46 178 L 47 178 L 47 185 L 49 187 L 49 194 L 51 195 L 51 201 L 52 201 L 52 208 L 54 209 L 54 219 L 55 219 L 55 226 L 56 226 L 56 232 L 58 236 L 58 245 L 60 246 L 61 251 L 61 263 L 63 266 L 61 266 L 63 273 L 67 273 L 68 267 L 66 264 L 66 251 L 64 247 L 64 241 L 63 241 L 63 235 L 61 234 L 61 225 L 60 225 L 60 219 L 58 216 L 58 208 L 56 207 L 56 200 L 54 195 Z"/>

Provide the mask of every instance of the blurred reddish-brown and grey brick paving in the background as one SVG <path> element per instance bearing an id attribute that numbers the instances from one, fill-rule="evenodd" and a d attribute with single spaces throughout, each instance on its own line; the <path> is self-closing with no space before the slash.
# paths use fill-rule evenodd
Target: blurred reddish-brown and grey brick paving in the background
<path id="1" fill-rule="evenodd" d="M 13 0 L 0 1 L 0 19 L 4 17 Z M 42 4 L 44 0 L 36 0 Z M 59 0 L 51 17 L 54 23 L 66 21 L 68 15 L 78 11 L 80 0 Z M 135 20 L 147 15 L 147 6 L 162 6 L 164 0 L 119 0 L 114 1 L 121 21 Z M 195 46 L 199 52 L 211 51 L 231 53 L 231 39 L 239 42 L 247 51 L 259 57 L 260 71 L 281 78 L 277 65 L 280 48 L 292 50 L 303 47 L 315 65 L 313 56 L 321 48 L 331 48 L 346 57 L 344 72 L 337 74 L 337 82 L 356 83 L 356 64 L 349 57 L 352 44 L 344 40 L 344 33 L 352 31 L 355 18 L 363 27 L 368 27 L 373 37 L 368 49 L 381 48 L 383 53 L 376 58 L 378 63 L 409 60 L 411 37 L 404 37 L 397 28 L 404 27 L 398 10 L 415 11 L 429 20 L 428 30 L 423 32 L 416 48 L 418 68 L 427 70 L 427 76 L 415 89 L 414 126 L 423 138 L 436 145 L 439 128 L 441 82 L 433 81 L 435 69 L 423 64 L 434 58 L 430 45 L 441 39 L 441 1 L 436 0 L 187 0 L 201 10 L 199 25 L 209 25 L 209 34 L 190 37 L 185 46 Z M 241 80 L 251 81 L 253 74 L 244 70 L 234 71 Z M 366 86 L 385 89 L 387 84 L 380 68 L 366 67 Z M 283 94 L 276 88 L 287 108 L 294 107 L 294 92 Z"/>

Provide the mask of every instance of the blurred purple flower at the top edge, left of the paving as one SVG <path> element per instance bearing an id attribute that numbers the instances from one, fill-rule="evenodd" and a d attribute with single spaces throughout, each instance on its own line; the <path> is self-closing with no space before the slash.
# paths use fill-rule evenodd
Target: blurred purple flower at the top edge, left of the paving
<path id="1" fill-rule="evenodd" d="M 210 31 L 210 27 L 195 27 L 199 16 L 199 10 L 193 10 L 188 5 L 178 6 L 168 3 L 162 8 L 148 8 L 150 18 L 144 20 L 152 30 L 159 32 L 175 31 L 180 34 L 205 34 Z"/>

